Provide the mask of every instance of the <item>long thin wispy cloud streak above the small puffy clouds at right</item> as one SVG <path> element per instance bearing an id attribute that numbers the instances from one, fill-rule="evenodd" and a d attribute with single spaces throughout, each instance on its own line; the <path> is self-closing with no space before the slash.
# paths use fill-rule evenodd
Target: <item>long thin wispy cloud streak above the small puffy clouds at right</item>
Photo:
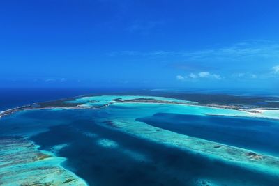
<path id="1" fill-rule="evenodd" d="M 279 43 L 266 40 L 250 40 L 247 42 L 234 43 L 225 47 L 211 47 L 202 50 L 179 50 L 179 51 L 119 51 L 115 55 L 127 56 L 176 56 L 186 61 L 211 61 L 213 63 L 230 63 L 238 61 L 255 61 L 255 59 L 279 59 Z"/>

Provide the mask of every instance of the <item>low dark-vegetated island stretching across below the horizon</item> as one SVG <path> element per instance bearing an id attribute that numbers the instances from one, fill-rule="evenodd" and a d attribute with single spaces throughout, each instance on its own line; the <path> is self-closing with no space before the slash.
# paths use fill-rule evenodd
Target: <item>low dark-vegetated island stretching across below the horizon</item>
<path id="1" fill-rule="evenodd" d="M 1 116 L 13 114 L 17 111 L 23 111 L 28 109 L 52 109 L 52 108 L 65 108 L 65 109 L 96 109 L 101 107 L 107 107 L 112 104 L 104 104 L 101 106 L 93 107 L 80 107 L 80 103 L 70 103 L 67 101 L 82 98 L 84 96 L 98 96 L 98 95 L 142 95 L 142 96 L 158 96 L 165 98 L 176 98 L 179 100 L 188 100 L 191 102 L 171 102 L 156 100 L 153 98 L 137 98 L 131 100 L 122 100 L 121 98 L 114 99 L 115 102 L 142 102 L 142 103 L 161 103 L 161 104 L 195 104 L 199 106 L 209 106 L 225 109 L 278 109 L 278 98 L 266 97 L 266 96 L 246 96 L 246 95 L 228 95 L 228 94 L 209 94 L 209 93 L 166 93 L 160 91 L 129 91 L 129 92 L 112 92 L 112 93 L 94 93 L 89 95 L 80 95 L 73 98 L 64 98 L 61 100 L 53 100 L 47 102 L 38 102 L 33 104 L 24 105 L 22 107 L 15 107 L 8 109 L 0 113 Z M 91 100 L 89 102 L 98 102 Z M 252 112 L 257 112 L 253 110 Z"/>

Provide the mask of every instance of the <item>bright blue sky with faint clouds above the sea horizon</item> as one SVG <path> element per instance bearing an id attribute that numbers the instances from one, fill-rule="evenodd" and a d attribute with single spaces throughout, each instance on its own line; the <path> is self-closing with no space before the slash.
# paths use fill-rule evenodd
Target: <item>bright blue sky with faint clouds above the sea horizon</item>
<path id="1" fill-rule="evenodd" d="M 279 1 L 0 3 L 1 87 L 279 89 Z"/>

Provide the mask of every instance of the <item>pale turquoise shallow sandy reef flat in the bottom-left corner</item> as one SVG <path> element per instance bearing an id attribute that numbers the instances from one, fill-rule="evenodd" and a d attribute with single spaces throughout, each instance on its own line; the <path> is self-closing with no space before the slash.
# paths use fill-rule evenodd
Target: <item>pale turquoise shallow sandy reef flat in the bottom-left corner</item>
<path id="1" fill-rule="evenodd" d="M 77 185 L 84 180 L 64 169 L 66 160 L 38 150 L 38 146 L 21 137 L 0 139 L 0 185 Z"/>

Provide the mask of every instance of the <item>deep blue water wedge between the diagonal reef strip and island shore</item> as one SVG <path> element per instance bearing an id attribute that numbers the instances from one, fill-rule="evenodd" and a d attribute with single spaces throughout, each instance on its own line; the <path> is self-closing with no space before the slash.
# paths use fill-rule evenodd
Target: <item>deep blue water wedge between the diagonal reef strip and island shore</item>
<path id="1" fill-rule="evenodd" d="M 137 120 L 191 137 L 279 155 L 278 120 L 166 113 Z"/>

